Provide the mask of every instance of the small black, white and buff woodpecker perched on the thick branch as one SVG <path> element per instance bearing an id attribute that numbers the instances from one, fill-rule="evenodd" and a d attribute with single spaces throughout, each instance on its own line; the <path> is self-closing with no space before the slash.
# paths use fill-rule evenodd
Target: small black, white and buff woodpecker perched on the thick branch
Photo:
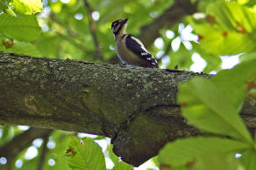
<path id="1" fill-rule="evenodd" d="M 159 68 L 151 53 L 146 51 L 138 38 L 126 34 L 126 19 L 118 19 L 111 25 L 117 46 L 117 56 L 124 65 Z"/>

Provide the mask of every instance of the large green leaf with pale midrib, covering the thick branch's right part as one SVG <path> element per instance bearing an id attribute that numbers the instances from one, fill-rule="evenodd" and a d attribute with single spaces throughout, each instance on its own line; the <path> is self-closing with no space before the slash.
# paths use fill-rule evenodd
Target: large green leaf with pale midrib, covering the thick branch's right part
<path id="1" fill-rule="evenodd" d="M 183 105 L 182 115 L 198 128 L 252 143 L 238 110 L 209 79 L 192 78 L 179 85 L 178 102 Z"/>

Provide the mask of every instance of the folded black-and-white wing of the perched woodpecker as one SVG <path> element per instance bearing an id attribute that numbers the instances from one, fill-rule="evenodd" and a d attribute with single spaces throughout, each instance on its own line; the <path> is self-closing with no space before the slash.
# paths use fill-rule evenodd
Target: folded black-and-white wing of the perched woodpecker
<path id="1" fill-rule="evenodd" d="M 149 67 L 158 68 L 157 61 L 153 58 L 151 53 L 146 51 L 144 45 L 139 41 L 138 38 L 133 37 L 132 35 L 128 35 L 125 37 L 126 47 L 135 53 L 139 58 L 146 60 L 148 62 Z"/>

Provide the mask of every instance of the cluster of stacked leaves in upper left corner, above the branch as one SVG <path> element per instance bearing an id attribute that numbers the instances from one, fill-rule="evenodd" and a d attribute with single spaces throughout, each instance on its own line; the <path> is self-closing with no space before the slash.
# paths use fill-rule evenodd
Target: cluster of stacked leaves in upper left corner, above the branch
<path id="1" fill-rule="evenodd" d="M 5 11 L 0 15 L 1 51 L 39 56 L 36 46 L 31 43 L 39 37 L 41 28 L 37 17 L 32 14 L 42 10 L 41 1 L 13 0 L 13 10 L 10 3 L 1 1 L 0 5 Z"/>

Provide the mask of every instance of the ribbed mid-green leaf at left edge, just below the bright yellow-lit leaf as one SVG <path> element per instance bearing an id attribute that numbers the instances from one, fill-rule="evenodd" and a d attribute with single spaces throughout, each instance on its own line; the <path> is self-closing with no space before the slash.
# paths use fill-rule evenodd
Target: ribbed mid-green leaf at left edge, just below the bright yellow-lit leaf
<path id="1" fill-rule="evenodd" d="M 41 33 L 37 17 L 12 17 L 8 14 L 0 15 L 0 34 L 19 41 L 32 42 Z"/>

